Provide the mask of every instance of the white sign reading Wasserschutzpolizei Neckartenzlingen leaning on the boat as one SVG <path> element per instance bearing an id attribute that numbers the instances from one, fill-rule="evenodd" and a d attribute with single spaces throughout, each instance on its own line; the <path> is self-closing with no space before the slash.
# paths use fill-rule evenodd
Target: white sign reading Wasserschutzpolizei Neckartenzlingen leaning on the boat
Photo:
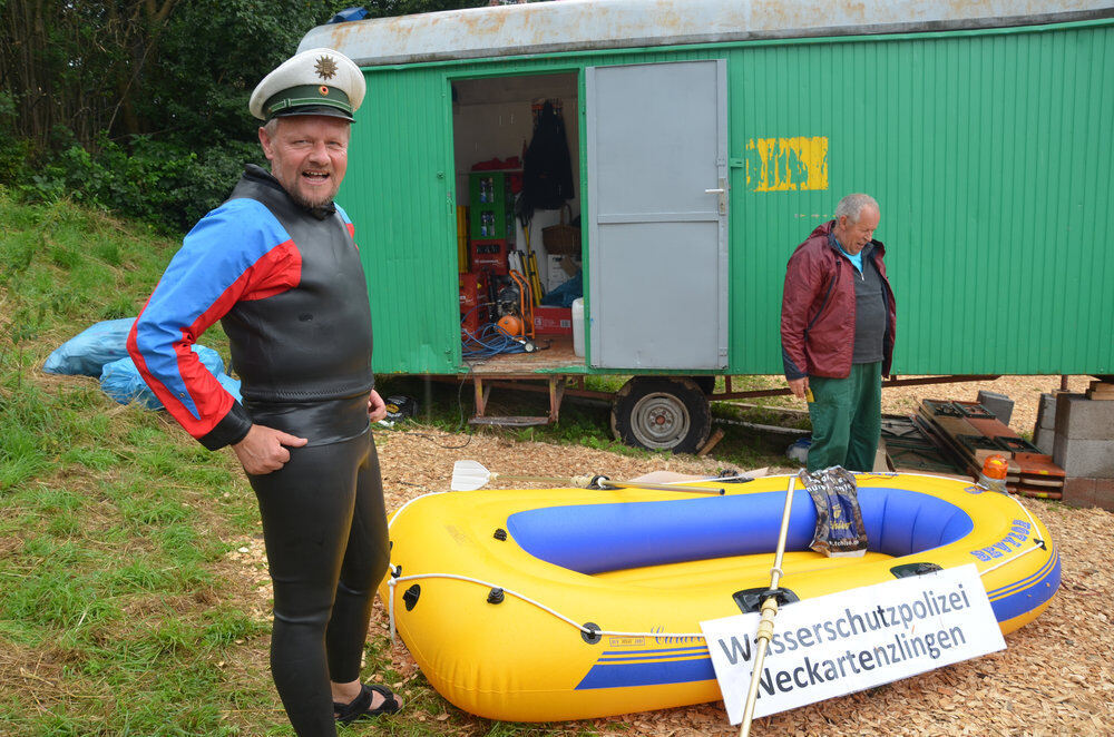
<path id="1" fill-rule="evenodd" d="M 701 622 L 731 724 L 743 718 L 759 613 Z M 779 608 L 754 717 L 1004 650 L 975 564 Z"/>

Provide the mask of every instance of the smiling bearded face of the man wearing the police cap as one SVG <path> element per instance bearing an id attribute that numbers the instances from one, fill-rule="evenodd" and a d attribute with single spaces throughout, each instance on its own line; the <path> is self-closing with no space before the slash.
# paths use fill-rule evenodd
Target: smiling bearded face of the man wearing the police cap
<path id="1" fill-rule="evenodd" d="M 303 207 L 332 202 L 348 170 L 350 124 L 342 118 L 297 115 L 278 118 L 273 134 L 260 128 L 271 174 Z"/>

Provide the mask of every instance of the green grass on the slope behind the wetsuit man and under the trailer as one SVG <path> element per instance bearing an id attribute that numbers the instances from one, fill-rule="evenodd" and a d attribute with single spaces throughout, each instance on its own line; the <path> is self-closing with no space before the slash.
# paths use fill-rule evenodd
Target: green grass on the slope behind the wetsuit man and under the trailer
<path id="1" fill-rule="evenodd" d="M 234 456 L 205 451 L 164 413 L 116 404 L 95 379 L 41 372 L 47 355 L 81 330 L 135 315 L 177 246 L 70 203 L 23 206 L 0 188 L 6 737 L 293 734 L 267 669 L 267 602 L 227 556 L 258 531 L 254 494 Z M 227 356 L 219 331 L 202 343 Z M 588 383 L 614 391 L 623 381 Z M 381 390 L 417 397 L 423 419 L 446 430 L 467 428 L 472 414 L 470 392 L 452 385 L 391 379 Z M 496 396 L 492 411 L 547 407 L 544 396 Z M 724 465 L 765 465 L 780 455 L 753 434 L 725 430 L 716 450 Z M 654 455 L 617 443 L 606 409 L 573 401 L 558 425 L 499 432 Z M 372 637 L 367 660 L 369 672 L 401 680 L 384 636 Z M 420 674 L 404 690 L 402 715 L 342 734 L 587 734 L 576 724 L 471 717 Z"/>

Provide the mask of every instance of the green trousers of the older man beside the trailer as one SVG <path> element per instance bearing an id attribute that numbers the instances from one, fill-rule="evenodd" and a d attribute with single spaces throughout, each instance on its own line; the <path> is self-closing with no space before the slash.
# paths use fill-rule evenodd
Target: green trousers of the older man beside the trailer
<path id="1" fill-rule="evenodd" d="M 851 364 L 847 379 L 809 376 L 813 401 L 809 472 L 842 465 L 872 471 L 882 430 L 882 364 Z"/>

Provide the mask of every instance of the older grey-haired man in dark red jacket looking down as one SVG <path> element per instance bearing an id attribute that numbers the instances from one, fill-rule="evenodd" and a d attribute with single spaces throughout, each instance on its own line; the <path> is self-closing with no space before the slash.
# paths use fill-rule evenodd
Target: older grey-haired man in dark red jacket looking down
<path id="1" fill-rule="evenodd" d="M 810 472 L 874 465 L 897 322 L 886 249 L 873 238 L 880 217 L 873 197 L 848 195 L 789 259 L 781 353 L 790 390 L 809 402 Z"/>

